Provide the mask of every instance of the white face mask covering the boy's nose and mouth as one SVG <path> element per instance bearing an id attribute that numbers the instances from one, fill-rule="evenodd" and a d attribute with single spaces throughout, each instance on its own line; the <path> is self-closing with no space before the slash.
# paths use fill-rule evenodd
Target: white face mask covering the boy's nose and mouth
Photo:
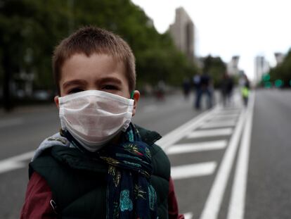
<path id="1" fill-rule="evenodd" d="M 127 130 L 134 100 L 88 90 L 58 98 L 60 125 L 89 151 L 97 151 L 120 131 Z"/>

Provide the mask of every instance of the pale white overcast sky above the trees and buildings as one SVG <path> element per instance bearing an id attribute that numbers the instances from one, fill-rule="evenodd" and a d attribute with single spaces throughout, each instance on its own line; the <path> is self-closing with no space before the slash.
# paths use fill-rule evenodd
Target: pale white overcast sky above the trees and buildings
<path id="1" fill-rule="evenodd" d="M 153 19 L 158 32 L 174 23 L 182 6 L 195 25 L 197 56 L 240 56 L 239 68 L 254 76 L 254 57 L 265 56 L 271 65 L 274 52 L 291 48 L 290 0 L 132 0 Z"/>

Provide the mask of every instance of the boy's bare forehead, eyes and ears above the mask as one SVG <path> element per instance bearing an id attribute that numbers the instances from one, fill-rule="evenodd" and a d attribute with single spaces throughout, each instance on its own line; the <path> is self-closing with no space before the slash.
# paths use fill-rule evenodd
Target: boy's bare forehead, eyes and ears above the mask
<path id="1" fill-rule="evenodd" d="M 86 90 L 110 92 L 130 98 L 129 83 L 125 75 L 124 63 L 106 54 L 74 54 L 63 64 L 60 75 L 60 96 Z M 134 111 L 139 99 L 134 91 Z M 58 96 L 55 97 L 58 106 Z"/>

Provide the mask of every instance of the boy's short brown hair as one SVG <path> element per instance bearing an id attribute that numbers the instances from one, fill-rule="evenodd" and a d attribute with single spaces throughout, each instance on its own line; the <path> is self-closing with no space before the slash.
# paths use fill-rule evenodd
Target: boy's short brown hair
<path id="1" fill-rule="evenodd" d="M 69 37 L 63 39 L 53 52 L 53 75 L 58 95 L 60 95 L 60 78 L 63 63 L 74 54 L 108 54 L 117 61 L 122 61 L 126 68 L 129 92 L 136 86 L 135 58 L 131 48 L 118 35 L 98 27 L 82 27 Z"/>

